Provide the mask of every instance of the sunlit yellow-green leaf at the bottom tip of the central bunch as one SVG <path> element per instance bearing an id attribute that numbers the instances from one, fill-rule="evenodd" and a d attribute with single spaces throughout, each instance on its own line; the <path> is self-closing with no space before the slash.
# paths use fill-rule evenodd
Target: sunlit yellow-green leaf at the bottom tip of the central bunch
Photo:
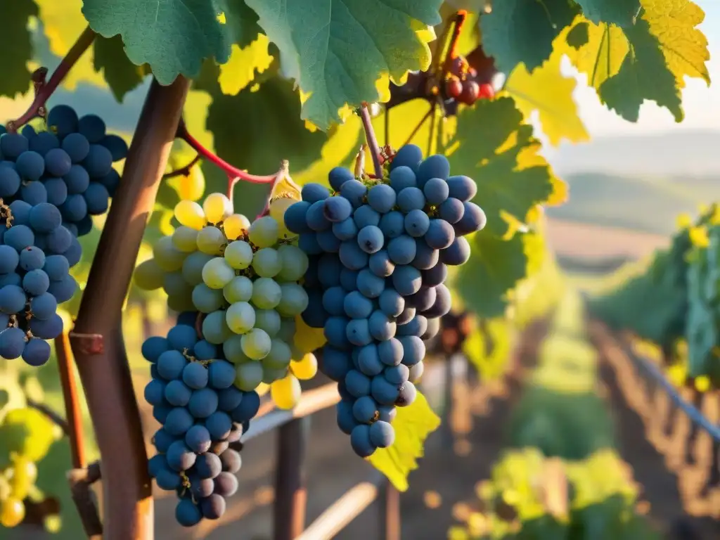
<path id="1" fill-rule="evenodd" d="M 425 455 L 423 446 L 428 435 L 440 426 L 440 418 L 418 391 L 408 407 L 398 407 L 392 420 L 395 442 L 390 448 L 379 448 L 369 462 L 390 480 L 398 491 L 408 490 L 408 474 L 418 468 L 418 458 Z"/>

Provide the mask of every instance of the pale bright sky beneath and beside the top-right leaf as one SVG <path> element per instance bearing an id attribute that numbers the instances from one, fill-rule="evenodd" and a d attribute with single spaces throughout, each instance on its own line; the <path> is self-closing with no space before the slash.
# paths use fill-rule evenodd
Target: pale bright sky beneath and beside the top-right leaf
<path id="1" fill-rule="evenodd" d="M 708 70 L 712 85 L 708 88 L 701 79 L 687 79 L 683 90 L 685 119 L 680 124 L 675 123 L 667 109 L 657 107 L 654 102 L 647 102 L 642 106 L 639 121 L 634 124 L 626 122 L 600 104 L 595 91 L 585 84 L 585 77 L 579 77 L 581 82 L 575 92 L 575 100 L 580 117 L 592 137 L 669 130 L 720 130 L 720 0 L 694 1 L 705 12 L 701 30 L 708 37 L 711 56 Z"/>

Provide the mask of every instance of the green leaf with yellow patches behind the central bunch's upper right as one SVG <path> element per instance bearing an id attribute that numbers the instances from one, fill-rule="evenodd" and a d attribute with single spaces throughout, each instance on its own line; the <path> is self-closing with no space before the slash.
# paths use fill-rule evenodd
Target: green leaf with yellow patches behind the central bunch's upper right
<path id="1" fill-rule="evenodd" d="M 540 143 L 510 97 L 462 109 L 447 148 L 451 171 L 477 181 L 474 202 L 485 210 L 486 229 L 495 235 L 508 233 L 508 217 L 523 222 L 554 192 L 552 171 L 537 154 Z"/>

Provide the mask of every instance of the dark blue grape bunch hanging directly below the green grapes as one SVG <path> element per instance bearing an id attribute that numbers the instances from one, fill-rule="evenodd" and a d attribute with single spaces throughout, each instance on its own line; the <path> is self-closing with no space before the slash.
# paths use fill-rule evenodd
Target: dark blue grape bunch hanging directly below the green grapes
<path id="1" fill-rule="evenodd" d="M 240 436 L 260 406 L 257 392 L 235 387 L 235 366 L 222 350 L 198 337 L 196 318 L 181 313 L 166 338 L 148 338 L 142 349 L 152 364 L 145 400 L 162 425 L 150 476 L 177 493 L 175 516 L 185 527 L 225 513 L 225 499 L 238 490 Z"/>

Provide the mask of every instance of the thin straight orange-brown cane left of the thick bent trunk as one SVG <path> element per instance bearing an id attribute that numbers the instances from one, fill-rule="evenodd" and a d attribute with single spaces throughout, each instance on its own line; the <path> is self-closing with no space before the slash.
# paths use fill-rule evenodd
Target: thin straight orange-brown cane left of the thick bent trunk
<path id="1" fill-rule="evenodd" d="M 83 416 L 80 408 L 80 397 L 73 370 L 73 352 L 70 348 L 68 333 L 63 332 L 55 338 L 55 353 L 58 355 L 58 371 L 60 384 L 63 387 L 65 415 L 67 418 L 68 437 L 73 459 L 73 468 L 82 469 L 86 466 L 85 441 L 83 438 Z"/>

